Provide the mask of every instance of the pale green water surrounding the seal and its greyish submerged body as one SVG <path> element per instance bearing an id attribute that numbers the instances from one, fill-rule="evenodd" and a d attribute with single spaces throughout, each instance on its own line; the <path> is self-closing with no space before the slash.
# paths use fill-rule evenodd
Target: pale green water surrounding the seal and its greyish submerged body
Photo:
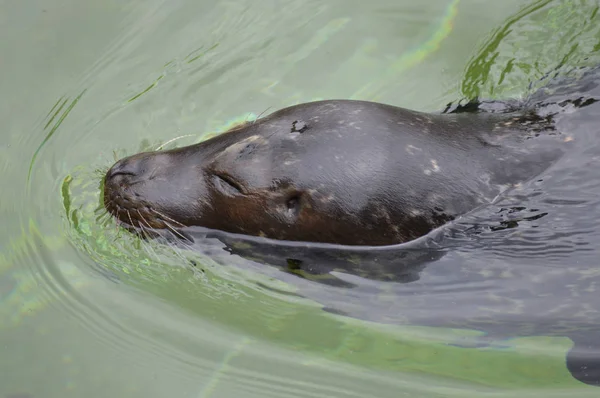
<path id="1" fill-rule="evenodd" d="M 598 62 L 598 2 L 0 7 L 0 397 L 600 394 L 566 370 L 567 338 L 464 348 L 447 343 L 479 332 L 338 317 L 276 273 L 190 267 L 98 211 L 115 158 L 294 103 L 524 96 Z"/>

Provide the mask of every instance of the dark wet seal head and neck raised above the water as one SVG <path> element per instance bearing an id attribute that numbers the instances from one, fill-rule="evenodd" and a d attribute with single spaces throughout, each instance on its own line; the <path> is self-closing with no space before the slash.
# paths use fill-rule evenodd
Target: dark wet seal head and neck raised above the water
<path id="1" fill-rule="evenodd" d="M 106 175 L 104 203 L 142 229 L 393 245 L 539 174 L 566 151 L 564 138 L 532 113 L 311 102 L 196 145 L 122 159 Z"/>

